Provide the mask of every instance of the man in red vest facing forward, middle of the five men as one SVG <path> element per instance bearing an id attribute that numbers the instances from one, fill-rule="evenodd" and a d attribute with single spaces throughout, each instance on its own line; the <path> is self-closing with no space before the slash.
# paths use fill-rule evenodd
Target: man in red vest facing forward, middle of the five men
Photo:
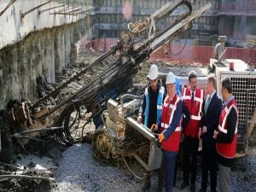
<path id="1" fill-rule="evenodd" d="M 191 191 L 195 191 L 195 177 L 197 165 L 197 152 L 199 147 L 198 132 L 201 123 L 203 99 L 205 91 L 197 88 L 197 74 L 189 73 L 189 88 L 183 89 L 183 102 L 189 108 L 190 119 L 188 125 L 183 127 L 183 183 L 180 189 L 189 185 L 189 173 L 191 172 Z M 189 159 L 191 157 L 191 164 Z"/>

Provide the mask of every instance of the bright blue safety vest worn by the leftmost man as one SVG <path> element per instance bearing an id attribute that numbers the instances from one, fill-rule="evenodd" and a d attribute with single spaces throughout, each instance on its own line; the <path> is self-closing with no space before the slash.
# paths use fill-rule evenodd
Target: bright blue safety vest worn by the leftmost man
<path id="1" fill-rule="evenodd" d="M 163 86 L 160 86 L 160 90 L 158 93 L 157 98 L 157 113 L 156 113 L 156 124 L 160 123 L 160 116 L 162 114 L 163 109 L 163 97 L 165 94 L 165 88 Z M 145 108 L 145 120 L 144 125 L 148 126 L 148 113 L 149 113 L 149 96 L 148 96 L 148 87 L 145 89 L 145 96 L 146 96 L 146 108 Z"/>

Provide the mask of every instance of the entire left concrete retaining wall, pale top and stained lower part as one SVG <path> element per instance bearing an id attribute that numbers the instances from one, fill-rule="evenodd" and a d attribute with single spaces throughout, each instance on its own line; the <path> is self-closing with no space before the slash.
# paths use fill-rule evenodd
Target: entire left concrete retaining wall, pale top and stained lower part
<path id="1" fill-rule="evenodd" d="M 79 32 L 85 28 L 86 15 L 50 14 L 72 7 L 79 8 L 72 13 L 90 8 L 82 0 L 50 3 L 48 0 L 18 0 L 2 12 L 10 2 L 0 1 L 0 109 L 5 108 L 10 100 L 35 101 L 38 96 L 36 79 L 44 76 L 53 83 L 55 74 L 68 67 L 72 44 L 79 40 Z M 47 4 L 22 17 L 43 3 Z"/>

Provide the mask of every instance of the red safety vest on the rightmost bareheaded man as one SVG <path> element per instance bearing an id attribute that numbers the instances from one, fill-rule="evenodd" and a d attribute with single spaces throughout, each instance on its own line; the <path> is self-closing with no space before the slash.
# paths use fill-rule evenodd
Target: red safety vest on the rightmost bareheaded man
<path id="1" fill-rule="evenodd" d="M 220 154 L 224 158 L 229 158 L 229 159 L 236 157 L 238 110 L 237 110 L 236 101 L 234 98 L 224 108 L 224 110 L 220 114 L 220 118 L 218 122 L 218 133 L 223 132 L 224 134 L 227 134 L 227 118 L 232 108 L 235 108 L 237 113 L 236 131 L 235 131 L 233 141 L 231 143 L 216 143 L 218 154 Z"/>

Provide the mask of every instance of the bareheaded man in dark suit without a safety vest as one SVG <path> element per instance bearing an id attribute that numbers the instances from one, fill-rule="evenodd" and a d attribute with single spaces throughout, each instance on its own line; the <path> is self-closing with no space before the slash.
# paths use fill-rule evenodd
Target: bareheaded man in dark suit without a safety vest
<path id="1" fill-rule="evenodd" d="M 202 178 L 200 192 L 207 192 L 208 172 L 210 172 L 211 192 L 216 192 L 218 159 L 216 143 L 212 137 L 218 130 L 219 115 L 222 111 L 222 101 L 217 94 L 217 82 L 214 76 L 208 76 L 206 84 L 207 98 L 201 119 L 198 137 L 202 139 Z"/>

